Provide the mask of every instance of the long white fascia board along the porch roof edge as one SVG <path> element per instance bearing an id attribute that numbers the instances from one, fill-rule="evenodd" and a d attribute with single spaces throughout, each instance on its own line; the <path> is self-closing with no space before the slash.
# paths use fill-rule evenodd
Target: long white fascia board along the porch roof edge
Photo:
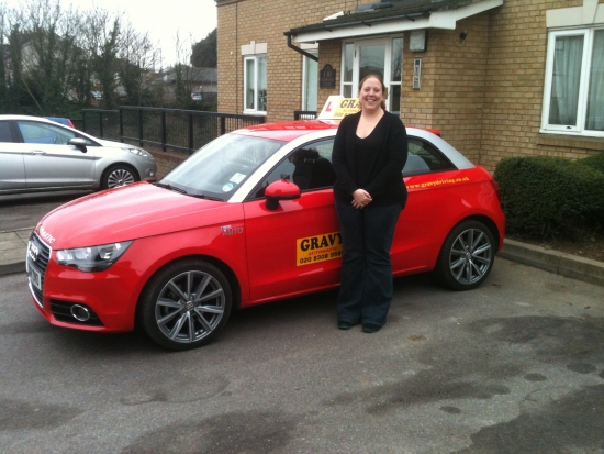
<path id="1" fill-rule="evenodd" d="M 469 18 L 470 15 L 480 14 L 481 12 L 501 7 L 503 0 L 485 0 L 478 3 L 469 4 L 458 10 L 452 11 L 436 11 L 429 18 L 418 18 L 414 21 L 401 19 L 392 22 L 378 22 L 368 25 L 353 25 L 327 30 L 300 33 L 293 36 L 297 43 L 314 43 L 315 41 L 343 40 L 347 37 L 363 37 L 381 34 L 394 34 L 406 32 L 409 30 L 425 30 L 425 29 L 446 29 L 455 30 L 457 21 Z M 325 27 L 329 27 L 328 23 L 324 23 Z"/>

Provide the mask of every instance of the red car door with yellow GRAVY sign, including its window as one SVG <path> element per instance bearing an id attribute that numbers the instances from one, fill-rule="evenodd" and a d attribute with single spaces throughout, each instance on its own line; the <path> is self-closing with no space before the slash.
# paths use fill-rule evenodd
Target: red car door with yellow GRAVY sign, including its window
<path id="1" fill-rule="evenodd" d="M 244 202 L 250 298 L 258 302 L 339 283 L 342 240 L 334 208 L 333 137 L 294 150 Z M 295 200 L 266 206 L 264 189 L 288 179 Z"/>

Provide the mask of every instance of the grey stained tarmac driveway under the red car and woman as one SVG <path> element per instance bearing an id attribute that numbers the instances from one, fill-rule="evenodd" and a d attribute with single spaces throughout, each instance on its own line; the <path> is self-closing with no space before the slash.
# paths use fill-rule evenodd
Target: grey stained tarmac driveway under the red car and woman
<path id="1" fill-rule="evenodd" d="M 217 342 L 48 325 L 0 276 L 7 453 L 604 453 L 604 288 L 505 259 L 481 288 L 395 281 L 387 326 L 334 292 L 242 311 Z"/>

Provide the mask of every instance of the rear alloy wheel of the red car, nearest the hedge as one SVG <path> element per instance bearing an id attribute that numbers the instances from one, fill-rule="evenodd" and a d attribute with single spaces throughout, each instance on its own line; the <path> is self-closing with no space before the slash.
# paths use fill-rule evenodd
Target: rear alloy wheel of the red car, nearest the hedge
<path id="1" fill-rule="evenodd" d="M 486 225 L 476 220 L 461 221 L 443 244 L 436 274 L 446 287 L 470 290 L 491 273 L 495 252 L 495 240 Z"/>

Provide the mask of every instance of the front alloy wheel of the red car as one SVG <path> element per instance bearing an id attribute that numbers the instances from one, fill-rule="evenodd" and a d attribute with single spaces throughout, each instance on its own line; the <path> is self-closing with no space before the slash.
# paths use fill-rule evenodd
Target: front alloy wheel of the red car
<path id="1" fill-rule="evenodd" d="M 149 279 L 138 302 L 138 322 L 158 344 L 189 350 L 224 328 L 233 296 L 224 274 L 199 259 L 175 262 Z"/>

